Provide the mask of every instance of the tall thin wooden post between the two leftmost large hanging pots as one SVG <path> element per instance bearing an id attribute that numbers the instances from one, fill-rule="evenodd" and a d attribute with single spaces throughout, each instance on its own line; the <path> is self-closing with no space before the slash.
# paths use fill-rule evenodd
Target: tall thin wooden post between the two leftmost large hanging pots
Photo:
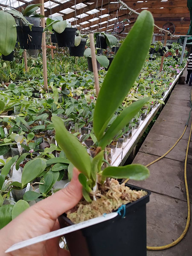
<path id="1" fill-rule="evenodd" d="M 41 15 L 44 15 L 44 0 L 40 0 L 41 6 L 40 6 L 40 13 Z M 41 26 L 45 27 L 45 19 L 41 18 Z M 45 32 L 42 36 L 42 55 L 43 55 L 43 70 L 44 70 L 44 90 L 48 90 L 48 83 L 47 83 L 47 55 L 46 55 L 46 37 Z"/>

